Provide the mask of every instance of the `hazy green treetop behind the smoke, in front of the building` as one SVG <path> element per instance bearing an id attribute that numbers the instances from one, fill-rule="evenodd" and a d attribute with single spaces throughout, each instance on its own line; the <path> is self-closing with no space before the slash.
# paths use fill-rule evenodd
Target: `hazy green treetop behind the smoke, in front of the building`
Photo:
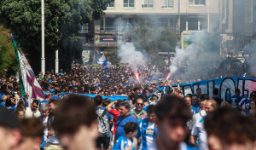
<path id="1" fill-rule="evenodd" d="M 137 49 L 145 49 L 148 54 L 157 55 L 157 52 L 174 52 L 178 34 L 169 27 L 155 26 L 150 20 L 139 20 L 137 27 L 125 35 L 131 38 Z"/>

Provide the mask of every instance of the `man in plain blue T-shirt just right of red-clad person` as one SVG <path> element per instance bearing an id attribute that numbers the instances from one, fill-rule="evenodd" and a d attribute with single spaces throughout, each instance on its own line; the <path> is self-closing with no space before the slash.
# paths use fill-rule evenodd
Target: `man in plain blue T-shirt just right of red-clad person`
<path id="1" fill-rule="evenodd" d="M 116 138 L 118 139 L 120 136 L 125 136 L 125 124 L 128 122 L 137 123 L 136 118 L 134 118 L 130 114 L 130 104 L 128 102 L 122 102 L 119 104 L 119 110 L 121 115 L 117 119 L 117 131 Z"/>

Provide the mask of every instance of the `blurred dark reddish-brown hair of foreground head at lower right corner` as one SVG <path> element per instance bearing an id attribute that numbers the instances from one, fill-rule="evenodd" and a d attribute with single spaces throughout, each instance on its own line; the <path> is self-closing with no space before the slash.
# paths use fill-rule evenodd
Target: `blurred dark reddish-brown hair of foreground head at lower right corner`
<path id="1" fill-rule="evenodd" d="M 207 136 L 217 136 L 224 143 L 245 144 L 256 141 L 256 120 L 241 115 L 235 109 L 219 108 L 205 118 Z"/>

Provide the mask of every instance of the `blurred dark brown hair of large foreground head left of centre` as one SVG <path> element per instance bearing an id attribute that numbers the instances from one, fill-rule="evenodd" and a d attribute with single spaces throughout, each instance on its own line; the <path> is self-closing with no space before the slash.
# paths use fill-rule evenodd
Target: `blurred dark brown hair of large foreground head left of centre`
<path id="1" fill-rule="evenodd" d="M 53 128 L 62 133 L 73 134 L 81 125 L 90 127 L 96 122 L 96 106 L 83 95 L 68 95 L 55 110 Z"/>

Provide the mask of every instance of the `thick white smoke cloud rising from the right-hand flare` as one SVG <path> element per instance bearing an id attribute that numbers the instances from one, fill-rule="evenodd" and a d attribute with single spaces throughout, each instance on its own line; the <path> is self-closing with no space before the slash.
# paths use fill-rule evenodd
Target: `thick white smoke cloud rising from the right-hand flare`
<path id="1" fill-rule="evenodd" d="M 213 64 L 221 61 L 217 36 L 207 32 L 195 32 L 191 34 L 190 41 L 186 49 L 176 48 L 170 66 L 170 74 L 177 71 L 175 75 L 181 79 L 207 76 L 206 70 L 213 70 Z"/>

